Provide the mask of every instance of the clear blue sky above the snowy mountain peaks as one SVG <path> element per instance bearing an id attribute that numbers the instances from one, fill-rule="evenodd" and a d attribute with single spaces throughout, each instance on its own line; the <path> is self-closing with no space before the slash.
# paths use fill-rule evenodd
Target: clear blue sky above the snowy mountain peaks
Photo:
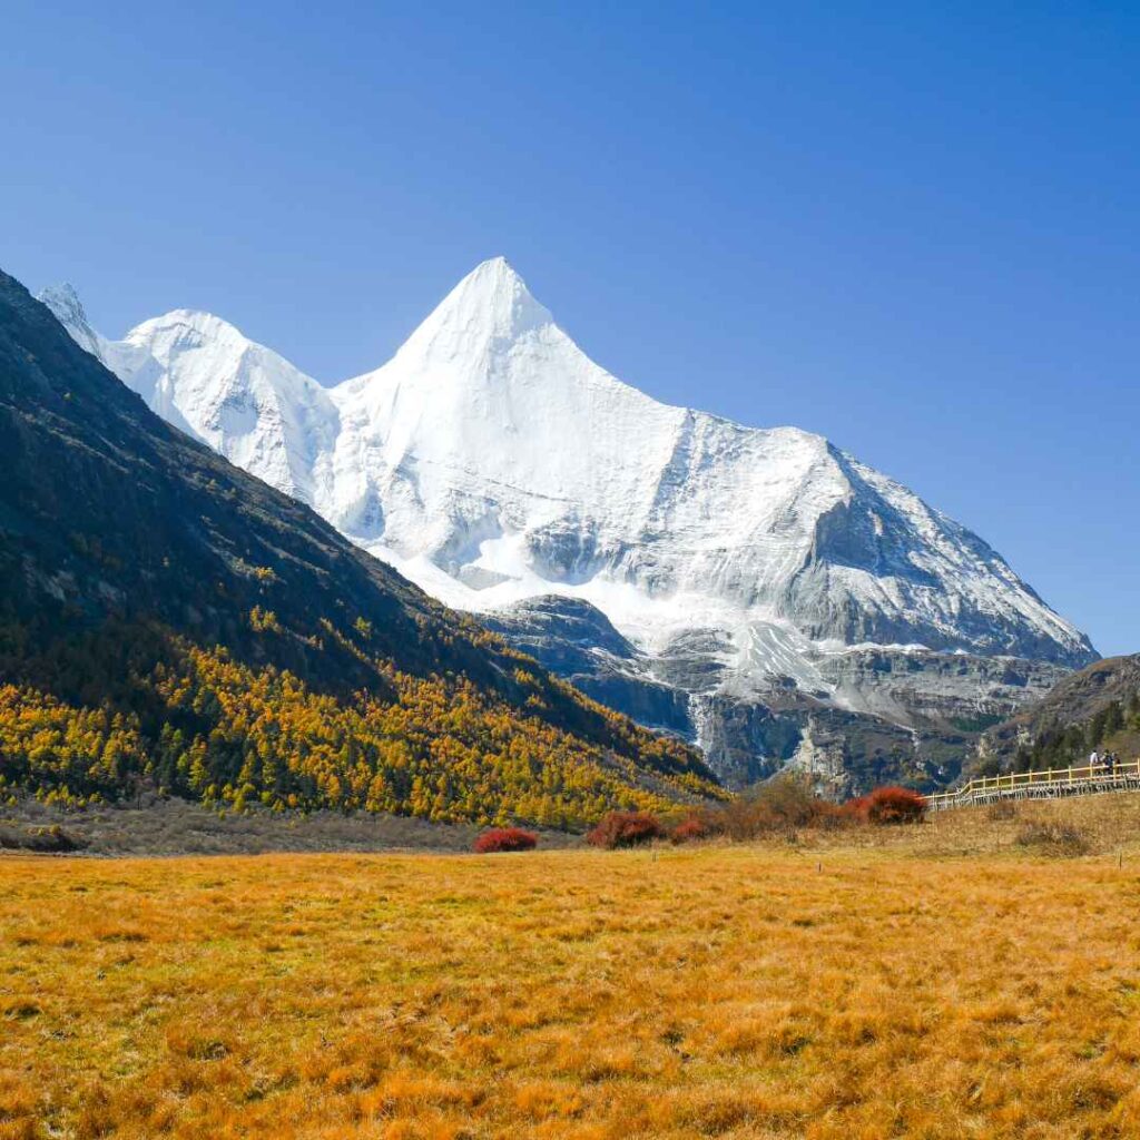
<path id="1" fill-rule="evenodd" d="M 823 432 L 1140 651 L 1135 5 L 230 7 L 9 0 L 3 268 L 331 382 L 503 253 L 611 372 Z"/>

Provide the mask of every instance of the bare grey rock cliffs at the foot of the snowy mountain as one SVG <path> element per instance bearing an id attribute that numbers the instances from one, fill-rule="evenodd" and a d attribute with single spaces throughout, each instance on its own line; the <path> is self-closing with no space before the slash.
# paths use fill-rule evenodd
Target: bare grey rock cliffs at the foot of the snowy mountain
<path id="1" fill-rule="evenodd" d="M 1067 675 L 1060 666 L 1016 658 L 853 649 L 822 659 L 829 687 L 808 692 L 790 677 L 773 677 L 749 691 L 726 663 L 726 643 L 711 632 L 652 656 L 601 611 L 556 595 L 484 622 L 595 700 L 699 742 L 735 788 L 784 768 L 836 796 L 898 780 L 940 787 L 958 777 L 984 730 Z"/>

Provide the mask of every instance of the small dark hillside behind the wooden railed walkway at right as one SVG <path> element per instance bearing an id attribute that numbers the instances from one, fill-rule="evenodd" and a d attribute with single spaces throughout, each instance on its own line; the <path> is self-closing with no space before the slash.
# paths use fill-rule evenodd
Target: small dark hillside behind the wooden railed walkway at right
<path id="1" fill-rule="evenodd" d="M 1089 754 L 1140 755 L 1140 653 L 1097 661 L 986 732 L 978 771 L 1067 767 Z"/>

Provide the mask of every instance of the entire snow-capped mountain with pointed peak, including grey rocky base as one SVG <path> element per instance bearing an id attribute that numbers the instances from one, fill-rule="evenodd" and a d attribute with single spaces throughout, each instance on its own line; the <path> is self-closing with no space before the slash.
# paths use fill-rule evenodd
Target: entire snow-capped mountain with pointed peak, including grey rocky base
<path id="1" fill-rule="evenodd" d="M 171 423 L 730 782 L 952 779 L 1096 658 L 985 542 L 820 435 L 670 407 L 594 364 L 502 258 L 324 386 L 218 317 L 72 336 Z"/>

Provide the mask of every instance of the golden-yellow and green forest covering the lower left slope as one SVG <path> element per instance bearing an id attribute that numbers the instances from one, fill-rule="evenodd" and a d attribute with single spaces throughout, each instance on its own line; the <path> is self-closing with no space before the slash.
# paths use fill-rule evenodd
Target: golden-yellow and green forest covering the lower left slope
<path id="1" fill-rule="evenodd" d="M 272 634 L 271 614 L 251 614 L 251 625 Z M 329 627 L 329 636 L 340 635 Z M 0 645 L 9 651 L 0 676 L 24 677 L 0 686 L 0 798 L 83 806 L 153 792 L 237 812 L 575 829 L 609 811 L 718 793 L 683 744 L 569 686 L 559 697 L 602 718 L 603 731 L 585 739 L 552 724 L 552 682 L 523 658 L 512 682 L 532 700 L 520 710 L 462 674 L 417 677 L 382 659 L 370 659 L 367 691 L 319 692 L 154 625 L 68 640 L 18 669 L 11 649 L 26 636 L 0 630 Z"/>

